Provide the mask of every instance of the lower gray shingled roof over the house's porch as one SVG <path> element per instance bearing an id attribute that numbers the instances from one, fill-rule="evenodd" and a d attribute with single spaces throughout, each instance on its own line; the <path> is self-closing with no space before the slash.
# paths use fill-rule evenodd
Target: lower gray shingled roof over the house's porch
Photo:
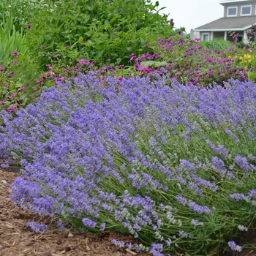
<path id="1" fill-rule="evenodd" d="M 256 15 L 252 16 L 240 16 L 240 17 L 228 17 L 219 18 L 206 25 L 199 26 L 194 29 L 195 31 L 228 31 L 233 30 L 246 30 L 249 29 L 252 24 L 256 23 Z"/>

